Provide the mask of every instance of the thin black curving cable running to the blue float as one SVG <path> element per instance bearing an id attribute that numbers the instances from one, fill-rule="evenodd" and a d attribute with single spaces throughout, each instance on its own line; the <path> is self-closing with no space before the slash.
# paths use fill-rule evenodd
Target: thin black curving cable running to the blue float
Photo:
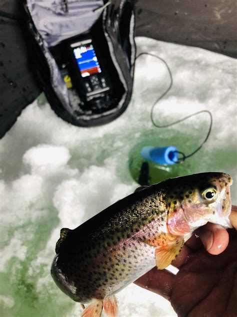
<path id="1" fill-rule="evenodd" d="M 184 154 L 183 152 L 181 152 L 181 151 L 175 151 L 175 152 L 177 152 L 178 154 L 181 155 L 181 157 L 179 157 L 178 160 L 177 160 L 177 162 L 175 162 L 175 163 L 183 162 L 184 160 L 186 160 L 187 157 L 190 157 L 190 156 L 192 156 L 193 154 L 195 154 L 195 153 L 202 147 L 202 145 L 207 141 L 207 139 L 208 139 L 208 137 L 209 137 L 209 135 L 210 135 L 211 127 L 212 127 L 212 114 L 211 114 L 211 112 L 210 112 L 209 110 L 200 110 L 200 111 L 194 112 L 194 113 L 192 113 L 192 114 L 189 114 L 189 115 L 185 116 L 185 117 L 182 118 L 182 119 L 176 120 L 176 121 L 171 122 L 171 123 L 168 123 L 168 124 L 159 125 L 159 124 L 155 123 L 154 118 L 153 118 L 154 107 L 155 107 L 156 104 L 168 93 L 168 91 L 171 89 L 172 84 L 173 84 L 172 73 L 171 73 L 171 70 L 170 70 L 168 64 L 166 63 L 166 61 L 165 61 L 164 59 L 162 59 L 161 57 L 159 57 L 159 56 L 157 56 L 157 55 L 154 55 L 154 54 L 151 54 L 151 53 L 142 52 L 142 53 L 140 53 L 140 54 L 138 54 L 138 55 L 136 56 L 135 60 L 137 60 L 141 55 L 150 55 L 150 56 L 155 57 L 155 58 L 159 59 L 160 61 L 162 61 L 162 62 L 164 63 L 164 65 L 165 65 L 167 71 L 168 71 L 169 78 L 170 78 L 170 82 L 169 82 L 169 85 L 168 85 L 167 89 L 154 101 L 154 103 L 153 103 L 152 106 L 151 106 L 151 110 L 150 110 L 150 120 L 151 120 L 152 124 L 153 124 L 155 127 L 157 127 L 157 128 L 167 128 L 167 127 L 170 127 L 170 126 L 172 126 L 172 125 L 174 125 L 174 124 L 180 123 L 180 122 L 182 122 L 182 121 L 184 121 L 184 120 L 186 120 L 186 119 L 188 119 L 188 118 L 190 118 L 190 117 L 193 117 L 193 116 L 195 116 L 195 115 L 198 115 L 198 114 L 200 114 L 200 113 L 207 113 L 207 114 L 209 115 L 209 117 L 210 117 L 210 124 L 209 124 L 209 128 L 208 128 L 206 137 L 205 137 L 205 139 L 201 142 L 201 144 L 200 144 L 194 151 L 192 151 L 192 152 L 191 152 L 190 154 L 188 154 L 188 155 L 185 155 L 185 154 Z"/>

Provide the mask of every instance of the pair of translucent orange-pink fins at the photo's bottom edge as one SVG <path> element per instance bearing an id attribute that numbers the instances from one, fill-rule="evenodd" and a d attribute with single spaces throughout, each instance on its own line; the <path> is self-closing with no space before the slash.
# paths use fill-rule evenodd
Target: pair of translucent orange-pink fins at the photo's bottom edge
<path id="1" fill-rule="evenodd" d="M 116 317 L 117 315 L 117 300 L 114 295 L 105 298 L 104 300 L 93 300 L 85 309 L 83 309 L 80 317 L 100 317 L 102 309 L 106 316 Z"/>

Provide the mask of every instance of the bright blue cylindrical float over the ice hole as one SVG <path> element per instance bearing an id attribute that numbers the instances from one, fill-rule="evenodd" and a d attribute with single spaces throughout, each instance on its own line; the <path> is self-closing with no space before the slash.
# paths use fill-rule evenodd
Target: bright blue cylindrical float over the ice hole
<path id="1" fill-rule="evenodd" d="M 141 156 L 146 161 L 153 161 L 157 164 L 172 165 L 178 161 L 178 153 L 175 146 L 150 146 L 146 145 L 141 149 Z"/>

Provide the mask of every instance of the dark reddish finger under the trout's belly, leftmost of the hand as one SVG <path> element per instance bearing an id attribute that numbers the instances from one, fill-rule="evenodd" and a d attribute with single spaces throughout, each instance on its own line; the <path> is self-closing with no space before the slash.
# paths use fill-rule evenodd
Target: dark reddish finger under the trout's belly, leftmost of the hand
<path id="1" fill-rule="evenodd" d="M 135 280 L 134 283 L 169 299 L 174 277 L 175 275 L 167 270 L 157 270 L 156 267 L 153 267 L 150 271 Z"/>

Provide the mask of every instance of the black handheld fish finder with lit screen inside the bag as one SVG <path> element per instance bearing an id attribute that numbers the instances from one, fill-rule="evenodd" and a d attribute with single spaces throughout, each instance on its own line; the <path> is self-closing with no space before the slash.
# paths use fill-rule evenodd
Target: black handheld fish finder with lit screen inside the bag
<path id="1" fill-rule="evenodd" d="M 79 94 L 87 100 L 110 90 L 109 77 L 101 54 L 91 38 L 68 43 L 71 79 Z"/>

